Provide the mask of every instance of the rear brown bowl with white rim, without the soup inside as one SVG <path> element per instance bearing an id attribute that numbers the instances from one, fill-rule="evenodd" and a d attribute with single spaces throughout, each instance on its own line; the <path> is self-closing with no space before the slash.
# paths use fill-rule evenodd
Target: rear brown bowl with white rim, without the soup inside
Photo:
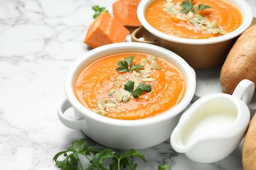
<path id="1" fill-rule="evenodd" d="M 158 44 L 163 48 L 167 48 L 184 58 L 194 69 L 205 69 L 223 64 L 226 55 L 236 41 L 236 37 L 243 33 L 253 20 L 251 8 L 244 0 L 225 0 L 240 10 L 242 14 L 242 25 L 240 27 L 220 37 L 210 39 L 184 39 L 162 33 L 148 24 L 144 13 L 148 5 L 153 1 L 156 0 L 140 1 L 137 16 L 143 27 L 133 32 L 132 41 Z M 145 41 L 140 40 L 140 37 L 144 37 Z"/>

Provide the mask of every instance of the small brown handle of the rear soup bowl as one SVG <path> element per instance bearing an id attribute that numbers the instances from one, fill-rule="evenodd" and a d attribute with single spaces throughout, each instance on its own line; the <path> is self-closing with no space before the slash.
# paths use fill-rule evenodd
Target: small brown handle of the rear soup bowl
<path id="1" fill-rule="evenodd" d="M 138 27 L 131 34 L 131 41 L 132 42 L 143 42 L 143 43 L 147 43 L 147 44 L 153 44 L 153 45 L 160 46 L 159 41 L 145 41 L 145 40 L 140 39 L 140 38 L 144 38 L 144 39 L 147 38 L 147 35 L 145 34 L 145 32 L 146 32 L 146 29 L 144 29 L 143 26 Z"/>

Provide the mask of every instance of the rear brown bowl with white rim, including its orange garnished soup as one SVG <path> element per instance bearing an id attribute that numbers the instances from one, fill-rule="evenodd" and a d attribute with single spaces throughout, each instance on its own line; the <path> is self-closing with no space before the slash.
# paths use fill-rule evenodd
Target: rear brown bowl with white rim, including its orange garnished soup
<path id="1" fill-rule="evenodd" d="M 142 0 L 137 15 L 132 41 L 163 46 L 194 69 L 223 64 L 253 18 L 244 0 Z"/>

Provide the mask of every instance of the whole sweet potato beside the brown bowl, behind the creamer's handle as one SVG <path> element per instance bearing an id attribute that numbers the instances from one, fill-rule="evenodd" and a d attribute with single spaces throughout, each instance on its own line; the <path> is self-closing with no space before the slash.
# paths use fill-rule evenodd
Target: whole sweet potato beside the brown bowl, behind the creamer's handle
<path id="1" fill-rule="evenodd" d="M 243 79 L 256 84 L 256 24 L 240 35 L 224 61 L 220 75 L 223 93 L 232 94 Z"/>

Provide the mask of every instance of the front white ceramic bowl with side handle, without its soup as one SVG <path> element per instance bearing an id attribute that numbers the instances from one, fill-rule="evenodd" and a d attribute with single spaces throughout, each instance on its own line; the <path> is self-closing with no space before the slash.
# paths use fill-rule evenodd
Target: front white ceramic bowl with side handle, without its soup
<path id="1" fill-rule="evenodd" d="M 95 114 L 95 112 L 81 105 L 74 95 L 74 83 L 77 75 L 96 59 L 121 52 L 152 54 L 173 63 L 184 75 L 186 82 L 186 92 L 181 102 L 158 116 L 142 120 L 107 118 Z M 60 103 L 58 117 L 65 126 L 72 129 L 81 129 L 88 137 L 105 146 L 119 149 L 148 148 L 169 139 L 173 129 L 177 126 L 181 116 L 180 113 L 192 100 L 195 89 L 196 77 L 194 70 L 177 54 L 159 46 L 139 42 L 108 44 L 87 52 L 77 59 L 70 68 L 64 81 L 67 99 Z M 75 118 L 65 116 L 64 112 L 69 108 L 74 109 Z"/>

